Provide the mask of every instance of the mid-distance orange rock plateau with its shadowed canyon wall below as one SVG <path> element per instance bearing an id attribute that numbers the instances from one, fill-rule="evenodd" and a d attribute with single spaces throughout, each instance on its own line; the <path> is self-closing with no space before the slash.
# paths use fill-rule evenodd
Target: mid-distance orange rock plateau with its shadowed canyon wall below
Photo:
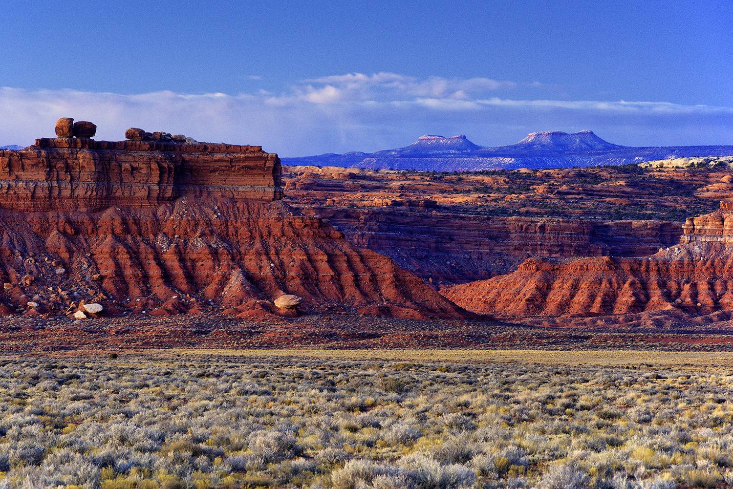
<path id="1" fill-rule="evenodd" d="M 733 196 L 733 158 L 477 173 L 284 166 L 285 199 L 435 286 L 528 257 L 638 257 Z"/>

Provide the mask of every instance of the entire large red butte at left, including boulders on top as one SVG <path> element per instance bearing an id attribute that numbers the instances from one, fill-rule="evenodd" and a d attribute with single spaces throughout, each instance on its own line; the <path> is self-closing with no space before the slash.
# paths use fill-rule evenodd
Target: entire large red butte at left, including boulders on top
<path id="1" fill-rule="evenodd" d="M 59 120 L 61 137 L 0 151 L 0 314 L 95 303 L 261 319 L 292 315 L 276 299 L 297 295 L 303 311 L 474 317 L 281 202 L 279 158 L 259 146 L 136 128 L 94 141 L 91 122 L 72 121 Z"/>

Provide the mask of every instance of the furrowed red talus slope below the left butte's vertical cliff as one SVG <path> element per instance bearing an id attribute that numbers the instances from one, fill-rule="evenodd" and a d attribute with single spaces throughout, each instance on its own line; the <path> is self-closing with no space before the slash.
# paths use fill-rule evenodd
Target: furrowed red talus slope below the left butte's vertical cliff
<path id="1" fill-rule="evenodd" d="M 211 304 L 248 312 L 285 293 L 312 310 L 470 316 L 388 258 L 282 202 L 180 197 L 100 213 L 2 210 L 0 232 L 8 309 L 34 298 L 47 312 L 80 300 L 160 314 Z"/>

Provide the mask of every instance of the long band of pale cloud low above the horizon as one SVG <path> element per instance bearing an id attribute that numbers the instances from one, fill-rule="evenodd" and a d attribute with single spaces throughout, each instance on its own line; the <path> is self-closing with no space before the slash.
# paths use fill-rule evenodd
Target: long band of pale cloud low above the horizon
<path id="1" fill-rule="evenodd" d="M 95 122 L 97 139 L 119 140 L 125 129 L 140 127 L 200 141 L 262 144 L 284 156 L 400 147 L 424 133 L 463 133 L 487 146 L 512 144 L 537 130 L 581 129 L 626 145 L 733 144 L 731 108 L 511 96 L 532 89 L 489 78 L 419 79 L 396 73 L 325 76 L 279 94 L 254 95 L 5 87 L 0 89 L 0 145 L 53 137 L 59 117 Z"/>

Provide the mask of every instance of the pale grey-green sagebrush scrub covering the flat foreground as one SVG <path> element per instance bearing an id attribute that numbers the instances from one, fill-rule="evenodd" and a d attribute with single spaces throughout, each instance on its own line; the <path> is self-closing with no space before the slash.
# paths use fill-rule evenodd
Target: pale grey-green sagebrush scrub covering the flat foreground
<path id="1" fill-rule="evenodd" d="M 733 483 L 733 371 L 0 359 L 0 488 Z"/>

